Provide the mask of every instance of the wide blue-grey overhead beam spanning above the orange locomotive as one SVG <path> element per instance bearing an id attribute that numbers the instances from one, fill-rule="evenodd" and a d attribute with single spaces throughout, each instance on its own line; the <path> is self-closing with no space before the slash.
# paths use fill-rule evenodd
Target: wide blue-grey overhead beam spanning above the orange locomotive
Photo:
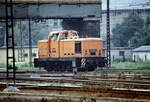
<path id="1" fill-rule="evenodd" d="M 101 18 L 101 4 L 13 4 L 14 19 Z M 5 5 L 0 4 L 0 18 L 5 18 Z"/>

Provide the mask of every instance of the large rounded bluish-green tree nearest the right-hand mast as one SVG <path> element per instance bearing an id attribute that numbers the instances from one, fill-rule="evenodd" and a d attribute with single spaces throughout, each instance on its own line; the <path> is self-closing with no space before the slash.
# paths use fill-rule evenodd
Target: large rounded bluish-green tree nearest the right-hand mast
<path id="1" fill-rule="evenodd" d="M 121 24 L 117 24 L 112 30 L 112 43 L 116 47 L 127 47 L 135 32 L 141 29 L 143 25 L 144 20 L 138 14 L 130 13 Z"/>

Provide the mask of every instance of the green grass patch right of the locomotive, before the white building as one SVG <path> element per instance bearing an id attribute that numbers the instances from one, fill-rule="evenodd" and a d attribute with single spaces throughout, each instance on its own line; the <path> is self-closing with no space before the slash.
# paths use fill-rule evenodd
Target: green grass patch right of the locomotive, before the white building
<path id="1" fill-rule="evenodd" d="M 93 72 L 88 72 L 89 75 L 100 75 L 102 78 L 107 78 L 107 74 L 150 74 L 149 62 L 112 62 L 112 69 L 137 69 L 133 71 L 110 71 L 108 68 L 97 68 Z"/>

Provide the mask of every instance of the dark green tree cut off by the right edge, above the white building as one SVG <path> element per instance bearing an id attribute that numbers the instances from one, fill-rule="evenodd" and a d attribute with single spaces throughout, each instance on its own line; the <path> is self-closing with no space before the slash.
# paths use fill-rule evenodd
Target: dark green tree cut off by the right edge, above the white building
<path id="1" fill-rule="evenodd" d="M 143 28 L 132 37 L 132 44 L 135 47 L 150 45 L 150 16 L 146 18 Z"/>

